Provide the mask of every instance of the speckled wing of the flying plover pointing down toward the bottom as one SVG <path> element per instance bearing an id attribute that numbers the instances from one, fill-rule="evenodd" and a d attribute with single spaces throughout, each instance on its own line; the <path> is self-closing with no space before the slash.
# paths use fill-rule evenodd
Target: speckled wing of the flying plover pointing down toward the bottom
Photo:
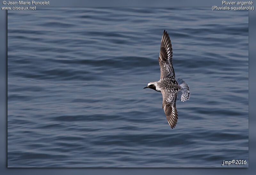
<path id="1" fill-rule="evenodd" d="M 166 119 L 173 129 L 178 121 L 178 112 L 176 109 L 177 91 L 161 91 L 163 95 L 163 108 Z"/>

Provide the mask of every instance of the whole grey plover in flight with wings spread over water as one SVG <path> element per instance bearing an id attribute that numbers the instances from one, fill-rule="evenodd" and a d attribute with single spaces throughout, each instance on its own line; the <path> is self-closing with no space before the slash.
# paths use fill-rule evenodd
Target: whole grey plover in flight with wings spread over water
<path id="1" fill-rule="evenodd" d="M 189 99 L 189 87 L 182 79 L 175 79 L 172 65 L 172 44 L 167 32 L 163 33 L 160 54 L 158 57 L 161 76 L 159 81 L 150 82 L 145 88 L 162 92 L 163 109 L 170 127 L 173 129 L 178 120 L 176 109 L 177 97 L 184 102 Z"/>

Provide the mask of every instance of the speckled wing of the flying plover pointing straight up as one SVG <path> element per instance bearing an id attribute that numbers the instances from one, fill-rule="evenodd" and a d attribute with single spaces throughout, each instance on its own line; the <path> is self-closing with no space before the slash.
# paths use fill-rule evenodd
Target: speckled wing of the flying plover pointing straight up
<path id="1" fill-rule="evenodd" d="M 166 77 L 175 78 L 175 73 L 172 66 L 172 44 L 171 44 L 170 37 L 168 33 L 165 32 L 165 30 L 162 36 L 158 61 L 159 61 L 160 70 L 161 70 L 160 79 L 163 79 Z"/>

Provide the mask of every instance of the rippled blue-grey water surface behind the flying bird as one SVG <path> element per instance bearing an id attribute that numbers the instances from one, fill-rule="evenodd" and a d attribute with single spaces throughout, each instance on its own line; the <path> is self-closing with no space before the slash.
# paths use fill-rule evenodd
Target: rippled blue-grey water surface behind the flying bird
<path id="1" fill-rule="evenodd" d="M 163 31 L 177 78 L 171 129 L 158 81 Z M 8 167 L 247 167 L 248 11 L 8 11 Z"/>

